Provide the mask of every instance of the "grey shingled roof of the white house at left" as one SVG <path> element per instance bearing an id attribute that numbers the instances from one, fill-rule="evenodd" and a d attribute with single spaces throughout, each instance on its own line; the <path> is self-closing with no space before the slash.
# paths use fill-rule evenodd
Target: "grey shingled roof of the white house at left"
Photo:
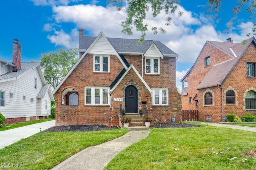
<path id="1" fill-rule="evenodd" d="M 23 75 L 27 74 L 30 70 L 37 69 L 42 80 L 42 84 L 46 85 L 46 81 L 44 79 L 44 74 L 42 72 L 40 63 L 21 63 L 21 68 L 22 69 L 16 72 L 7 72 L 6 74 L 3 74 L 2 76 L 0 76 L 0 82 L 16 80 L 22 77 Z"/>

